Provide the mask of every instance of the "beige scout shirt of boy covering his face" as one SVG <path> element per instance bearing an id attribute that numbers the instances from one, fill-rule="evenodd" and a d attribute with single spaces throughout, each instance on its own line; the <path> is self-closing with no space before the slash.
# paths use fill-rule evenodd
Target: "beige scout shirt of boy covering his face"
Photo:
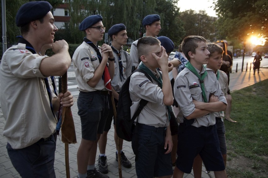
<path id="1" fill-rule="evenodd" d="M 157 78 L 159 77 L 159 73 L 153 72 L 153 74 Z M 164 95 L 156 81 L 153 80 L 152 83 L 143 73 L 135 72 L 131 75 L 129 93 L 132 100 L 132 106 L 130 107 L 131 117 L 136 112 L 141 99 L 148 101 L 138 118 L 135 119 L 135 122 L 138 121 L 138 123 L 154 127 L 166 127 L 169 125 L 168 113 L 163 102 Z"/>

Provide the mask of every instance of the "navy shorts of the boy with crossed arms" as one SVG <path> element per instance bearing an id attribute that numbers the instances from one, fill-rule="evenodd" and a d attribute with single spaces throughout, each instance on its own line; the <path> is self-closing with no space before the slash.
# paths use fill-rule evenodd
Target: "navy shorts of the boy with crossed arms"
<path id="1" fill-rule="evenodd" d="M 187 174 L 191 173 L 197 154 L 200 154 L 206 170 L 225 170 L 216 125 L 197 128 L 180 123 L 177 154 L 176 166 Z"/>

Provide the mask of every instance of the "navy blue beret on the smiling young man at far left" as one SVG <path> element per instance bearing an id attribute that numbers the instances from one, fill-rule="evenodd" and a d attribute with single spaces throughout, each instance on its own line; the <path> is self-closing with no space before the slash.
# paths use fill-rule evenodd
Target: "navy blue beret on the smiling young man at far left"
<path id="1" fill-rule="evenodd" d="M 23 4 L 16 15 L 16 25 L 21 27 L 31 21 L 44 17 L 52 6 L 46 1 L 33 1 Z"/>

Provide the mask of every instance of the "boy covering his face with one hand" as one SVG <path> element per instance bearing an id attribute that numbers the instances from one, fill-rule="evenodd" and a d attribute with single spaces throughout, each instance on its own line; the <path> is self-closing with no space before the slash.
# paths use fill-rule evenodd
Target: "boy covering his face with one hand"
<path id="1" fill-rule="evenodd" d="M 135 120 L 136 127 L 132 137 L 137 177 L 169 178 L 173 173 L 170 157 L 173 144 L 167 106 L 172 105 L 173 96 L 168 76 L 168 55 L 159 40 L 151 36 L 138 40 L 137 51 L 142 60 L 138 69 L 147 72 L 153 79 L 150 82 L 143 73 L 135 72 L 129 83 L 131 117 L 141 99 L 148 101 Z M 159 67 L 162 78 L 157 69 Z"/>

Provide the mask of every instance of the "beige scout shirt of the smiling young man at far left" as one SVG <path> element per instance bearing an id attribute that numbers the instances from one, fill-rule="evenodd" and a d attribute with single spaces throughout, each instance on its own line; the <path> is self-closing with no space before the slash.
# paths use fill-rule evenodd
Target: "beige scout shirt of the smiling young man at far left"
<path id="1" fill-rule="evenodd" d="M 3 135 L 13 149 L 21 149 L 55 132 L 44 77 L 39 70 L 48 56 L 32 54 L 25 44 L 12 46 L 0 65 L 0 101 L 6 124 Z"/>

